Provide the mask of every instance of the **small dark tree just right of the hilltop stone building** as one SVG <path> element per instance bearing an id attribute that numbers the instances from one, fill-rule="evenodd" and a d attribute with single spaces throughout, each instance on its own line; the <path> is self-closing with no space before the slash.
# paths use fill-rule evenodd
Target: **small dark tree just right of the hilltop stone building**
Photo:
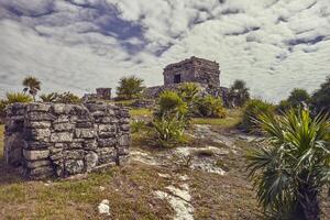
<path id="1" fill-rule="evenodd" d="M 246 87 L 246 82 L 241 79 L 237 79 L 229 89 L 228 98 L 233 107 L 244 106 L 250 99 L 250 92 L 249 88 Z"/>

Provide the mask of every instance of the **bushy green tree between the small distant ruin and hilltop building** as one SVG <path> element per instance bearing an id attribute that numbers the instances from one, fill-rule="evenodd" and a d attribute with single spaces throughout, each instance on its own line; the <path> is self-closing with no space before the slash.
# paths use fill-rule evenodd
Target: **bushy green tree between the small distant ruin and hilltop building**
<path id="1" fill-rule="evenodd" d="M 117 96 L 119 99 L 133 99 L 140 97 L 143 89 L 143 79 L 135 76 L 123 77 L 119 80 Z"/>

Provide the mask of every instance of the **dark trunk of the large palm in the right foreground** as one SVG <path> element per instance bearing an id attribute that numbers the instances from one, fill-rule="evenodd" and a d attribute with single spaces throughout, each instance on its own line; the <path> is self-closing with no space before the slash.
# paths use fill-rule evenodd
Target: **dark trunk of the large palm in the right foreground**
<path id="1" fill-rule="evenodd" d="M 311 187 L 309 184 L 304 184 L 300 186 L 298 199 L 305 220 L 320 220 L 320 207 L 317 189 Z"/>

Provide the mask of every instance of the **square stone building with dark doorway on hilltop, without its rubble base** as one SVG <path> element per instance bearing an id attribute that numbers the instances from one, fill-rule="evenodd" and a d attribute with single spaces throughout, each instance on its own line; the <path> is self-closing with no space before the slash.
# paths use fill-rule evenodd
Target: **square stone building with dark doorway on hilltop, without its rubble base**
<path id="1" fill-rule="evenodd" d="M 220 87 L 220 70 L 217 62 L 195 56 L 164 68 L 164 85 L 198 82 L 209 87 Z"/>

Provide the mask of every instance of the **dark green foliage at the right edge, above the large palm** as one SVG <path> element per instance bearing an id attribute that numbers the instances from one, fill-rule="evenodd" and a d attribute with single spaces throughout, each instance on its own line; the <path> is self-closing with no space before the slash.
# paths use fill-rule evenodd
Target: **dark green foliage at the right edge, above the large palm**
<path id="1" fill-rule="evenodd" d="M 330 112 L 330 76 L 312 95 L 312 105 L 316 110 Z"/>

